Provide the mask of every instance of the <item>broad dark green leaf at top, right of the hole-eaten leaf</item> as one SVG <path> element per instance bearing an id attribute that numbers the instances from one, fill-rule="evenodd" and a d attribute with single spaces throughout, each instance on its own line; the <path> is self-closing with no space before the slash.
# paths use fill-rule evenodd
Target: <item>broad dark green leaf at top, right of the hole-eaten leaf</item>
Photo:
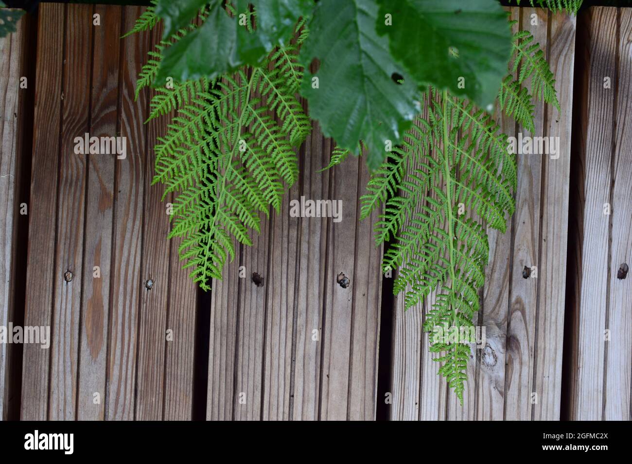
<path id="1" fill-rule="evenodd" d="M 377 32 L 416 83 L 490 109 L 511 52 L 507 13 L 497 0 L 377 1 Z"/>

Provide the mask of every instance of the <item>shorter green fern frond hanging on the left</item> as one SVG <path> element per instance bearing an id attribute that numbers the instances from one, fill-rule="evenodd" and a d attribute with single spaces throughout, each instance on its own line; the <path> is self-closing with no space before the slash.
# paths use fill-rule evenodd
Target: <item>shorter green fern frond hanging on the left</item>
<path id="1" fill-rule="evenodd" d="M 183 237 L 180 258 L 202 289 L 221 279 L 233 240 L 251 244 L 260 213 L 278 212 L 284 183 L 298 179 L 295 148 L 311 124 L 278 57 L 212 88 L 184 83 L 152 101 L 155 116 L 178 108 L 155 146 L 153 182 L 175 195 L 169 237 Z"/>

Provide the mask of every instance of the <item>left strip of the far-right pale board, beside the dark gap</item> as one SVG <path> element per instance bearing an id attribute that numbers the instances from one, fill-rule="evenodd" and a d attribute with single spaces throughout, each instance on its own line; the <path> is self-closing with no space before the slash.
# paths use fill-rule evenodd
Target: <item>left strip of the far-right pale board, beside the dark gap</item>
<path id="1" fill-rule="evenodd" d="M 614 88 L 604 88 L 604 77 L 616 76 L 616 9 L 591 8 L 585 13 L 586 102 L 582 109 L 580 150 L 583 168 L 583 239 L 576 347 L 576 381 L 571 393 L 571 417 L 602 418 L 604 387 L 604 329 L 607 311 L 609 219 Z"/>

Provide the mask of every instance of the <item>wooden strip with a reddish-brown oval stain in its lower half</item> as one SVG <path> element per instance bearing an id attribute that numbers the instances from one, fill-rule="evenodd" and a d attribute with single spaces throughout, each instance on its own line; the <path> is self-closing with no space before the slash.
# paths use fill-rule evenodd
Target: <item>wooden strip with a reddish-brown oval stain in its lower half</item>
<path id="1" fill-rule="evenodd" d="M 101 25 L 93 29 L 94 56 L 97 59 L 92 63 L 90 136 L 114 137 L 118 135 L 121 9 L 95 6 L 94 13 L 100 15 Z M 88 180 L 77 419 L 103 420 L 106 403 L 116 157 L 103 154 L 86 156 Z M 94 277 L 95 266 L 99 266 L 100 277 Z M 97 404 L 94 403 L 95 393 L 98 393 L 100 398 Z"/>

